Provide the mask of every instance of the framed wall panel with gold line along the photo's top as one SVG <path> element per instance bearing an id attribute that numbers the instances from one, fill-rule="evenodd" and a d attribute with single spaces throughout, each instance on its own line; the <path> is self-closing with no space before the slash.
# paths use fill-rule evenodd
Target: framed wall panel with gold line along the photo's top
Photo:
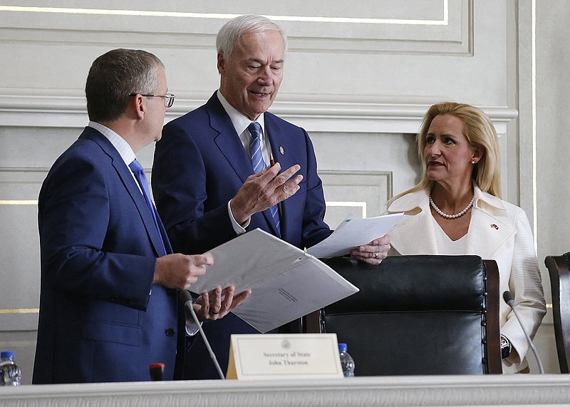
<path id="1" fill-rule="evenodd" d="M 0 38 L 51 45 L 118 47 L 128 43 L 212 49 L 225 21 L 240 14 L 264 14 L 289 34 L 291 51 L 472 55 L 472 0 L 423 0 L 421 7 L 416 2 L 393 1 L 358 9 L 347 8 L 342 0 L 329 0 L 323 9 L 296 0 L 287 7 L 293 14 L 285 14 L 281 4 L 271 3 L 261 8 L 242 4 L 238 10 L 229 1 L 190 8 L 180 2 L 141 0 L 136 9 L 121 9 L 120 5 L 110 9 L 96 2 L 78 7 L 76 1 L 62 0 L 55 8 L 38 1 L 35 7 L 0 6 Z"/>

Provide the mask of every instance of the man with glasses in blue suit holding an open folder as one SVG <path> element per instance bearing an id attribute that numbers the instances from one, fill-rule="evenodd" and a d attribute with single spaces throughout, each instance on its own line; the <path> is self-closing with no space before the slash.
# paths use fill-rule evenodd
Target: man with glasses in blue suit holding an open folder
<path id="1" fill-rule="evenodd" d="M 148 381 L 155 362 L 172 380 L 187 331 L 177 290 L 196 282 L 212 258 L 172 254 L 144 172 L 133 165 L 138 150 L 160 140 L 174 95 L 156 56 L 117 49 L 93 62 L 86 97 L 90 123 L 39 195 L 33 383 Z M 222 318 L 248 295 L 233 290 L 202 294 L 193 305 L 199 318 Z"/>

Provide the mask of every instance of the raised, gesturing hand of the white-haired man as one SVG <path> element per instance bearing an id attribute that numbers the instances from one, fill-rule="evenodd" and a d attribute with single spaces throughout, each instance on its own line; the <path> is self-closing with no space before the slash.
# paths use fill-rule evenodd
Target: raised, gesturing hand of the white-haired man
<path id="1" fill-rule="evenodd" d="M 262 212 L 286 200 L 299 190 L 299 182 L 303 180 L 303 175 L 291 177 L 301 170 L 301 167 L 293 165 L 281 174 L 279 170 L 281 165 L 276 163 L 247 177 L 229 204 L 232 215 L 239 225 L 243 225 L 254 213 Z"/>

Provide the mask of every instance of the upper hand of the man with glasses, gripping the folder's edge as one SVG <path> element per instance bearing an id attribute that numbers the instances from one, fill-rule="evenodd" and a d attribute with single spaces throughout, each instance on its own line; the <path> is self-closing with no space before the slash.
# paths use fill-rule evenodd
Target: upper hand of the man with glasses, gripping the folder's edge
<path id="1" fill-rule="evenodd" d="M 188 289 L 199 276 L 204 275 L 206 266 L 213 263 L 214 259 L 209 254 L 167 254 L 156 259 L 152 282 L 167 288 Z"/>

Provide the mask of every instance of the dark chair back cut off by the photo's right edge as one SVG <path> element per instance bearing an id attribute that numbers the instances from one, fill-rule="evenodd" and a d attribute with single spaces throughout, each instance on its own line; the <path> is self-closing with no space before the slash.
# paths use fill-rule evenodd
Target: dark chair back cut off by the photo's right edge
<path id="1" fill-rule="evenodd" d="M 546 256 L 552 294 L 552 319 L 560 373 L 569 373 L 570 366 L 570 253 Z"/>

